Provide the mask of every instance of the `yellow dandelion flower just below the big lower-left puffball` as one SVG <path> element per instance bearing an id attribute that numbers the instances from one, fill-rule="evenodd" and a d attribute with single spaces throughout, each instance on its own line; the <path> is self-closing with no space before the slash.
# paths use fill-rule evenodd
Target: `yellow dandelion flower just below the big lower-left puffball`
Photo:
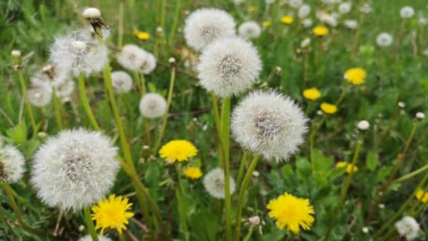
<path id="1" fill-rule="evenodd" d="M 122 234 L 122 230 L 126 230 L 128 219 L 134 214 L 128 211 L 132 204 L 128 203 L 126 197 L 115 197 L 111 194 L 108 199 L 103 199 L 98 204 L 92 206 L 92 220 L 96 221 L 95 229 L 101 228 L 103 235 L 106 228 L 116 229 Z"/>

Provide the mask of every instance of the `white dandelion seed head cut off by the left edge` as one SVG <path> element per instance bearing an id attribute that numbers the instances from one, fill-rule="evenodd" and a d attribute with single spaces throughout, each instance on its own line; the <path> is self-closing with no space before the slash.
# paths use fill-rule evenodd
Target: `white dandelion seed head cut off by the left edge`
<path id="1" fill-rule="evenodd" d="M 23 154 L 15 147 L 0 146 L 0 181 L 8 183 L 18 182 L 25 171 Z"/>

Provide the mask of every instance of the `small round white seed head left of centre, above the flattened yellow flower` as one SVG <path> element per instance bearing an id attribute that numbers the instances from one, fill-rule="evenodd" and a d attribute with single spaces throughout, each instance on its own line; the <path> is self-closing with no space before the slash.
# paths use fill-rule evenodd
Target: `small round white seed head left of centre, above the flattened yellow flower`
<path id="1" fill-rule="evenodd" d="M 160 94 L 149 93 L 139 101 L 139 112 L 146 118 L 159 118 L 166 112 L 167 102 Z"/>

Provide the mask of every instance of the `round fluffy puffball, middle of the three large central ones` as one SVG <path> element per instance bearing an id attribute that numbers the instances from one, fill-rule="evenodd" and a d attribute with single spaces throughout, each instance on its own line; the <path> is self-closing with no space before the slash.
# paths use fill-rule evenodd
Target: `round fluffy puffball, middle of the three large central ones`
<path id="1" fill-rule="evenodd" d="M 219 97 L 231 97 L 250 89 L 261 70 L 256 48 L 239 37 L 218 39 L 200 57 L 201 85 Z"/>

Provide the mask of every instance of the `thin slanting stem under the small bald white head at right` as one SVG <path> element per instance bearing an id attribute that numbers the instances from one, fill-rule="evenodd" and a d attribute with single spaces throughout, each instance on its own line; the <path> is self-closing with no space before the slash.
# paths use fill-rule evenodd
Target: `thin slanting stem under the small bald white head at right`
<path id="1" fill-rule="evenodd" d="M 357 147 L 355 147 L 355 152 L 353 154 L 351 166 L 355 166 L 355 163 L 358 160 L 358 154 L 360 154 L 361 144 L 363 144 L 362 138 L 360 138 L 360 140 L 358 140 Z M 342 185 L 339 204 L 336 206 L 336 211 L 334 211 L 332 222 L 329 225 L 329 228 L 327 230 L 327 234 L 324 237 L 324 240 L 329 240 L 330 234 L 332 233 L 332 230 L 333 230 L 334 226 L 336 225 L 337 218 L 339 217 L 339 213 L 341 211 L 341 208 L 344 205 L 344 202 L 346 200 L 346 196 L 347 196 L 348 190 L 349 190 L 349 185 L 351 185 L 352 177 L 353 177 L 353 171 L 351 171 L 351 173 L 349 173 L 348 178 L 346 178 L 345 183 Z"/>

